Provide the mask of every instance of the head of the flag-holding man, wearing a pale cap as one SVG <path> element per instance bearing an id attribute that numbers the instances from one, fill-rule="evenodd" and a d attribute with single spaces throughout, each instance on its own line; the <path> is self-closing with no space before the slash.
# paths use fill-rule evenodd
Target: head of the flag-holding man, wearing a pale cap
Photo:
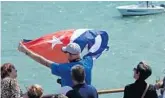
<path id="1" fill-rule="evenodd" d="M 81 48 L 77 43 L 70 43 L 62 47 L 62 51 L 67 54 L 70 62 L 80 60 Z"/>

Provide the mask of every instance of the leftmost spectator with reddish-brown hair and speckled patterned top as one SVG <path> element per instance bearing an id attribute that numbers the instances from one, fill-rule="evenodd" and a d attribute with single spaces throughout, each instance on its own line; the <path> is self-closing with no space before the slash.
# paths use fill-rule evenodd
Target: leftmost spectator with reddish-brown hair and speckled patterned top
<path id="1" fill-rule="evenodd" d="M 19 98 L 22 91 L 17 82 L 17 70 L 11 63 L 4 63 L 1 66 L 1 97 Z"/>

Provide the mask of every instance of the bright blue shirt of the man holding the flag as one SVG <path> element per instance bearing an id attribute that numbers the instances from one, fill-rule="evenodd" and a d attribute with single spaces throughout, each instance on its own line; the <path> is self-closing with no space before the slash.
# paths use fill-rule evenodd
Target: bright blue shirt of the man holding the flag
<path id="1" fill-rule="evenodd" d="M 93 59 L 91 56 L 86 56 L 82 60 L 77 62 L 64 63 L 64 64 L 58 64 L 58 63 L 51 64 L 52 74 L 61 77 L 61 86 L 73 86 L 72 78 L 71 78 L 71 68 L 76 64 L 80 64 L 84 67 L 86 74 L 85 82 L 88 85 L 91 84 Z"/>

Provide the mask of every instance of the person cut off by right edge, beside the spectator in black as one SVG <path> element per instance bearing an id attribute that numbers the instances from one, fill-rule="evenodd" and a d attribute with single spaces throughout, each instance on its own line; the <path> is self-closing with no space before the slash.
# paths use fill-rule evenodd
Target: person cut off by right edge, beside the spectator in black
<path id="1" fill-rule="evenodd" d="M 161 96 L 165 97 L 165 77 L 155 84 L 157 90 L 160 89 Z"/>

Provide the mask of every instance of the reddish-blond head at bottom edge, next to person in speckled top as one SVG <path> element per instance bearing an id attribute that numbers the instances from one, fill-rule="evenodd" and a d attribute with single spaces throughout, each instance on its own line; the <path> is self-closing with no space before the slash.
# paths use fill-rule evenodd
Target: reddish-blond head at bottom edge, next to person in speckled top
<path id="1" fill-rule="evenodd" d="M 34 84 L 28 87 L 27 92 L 22 98 L 41 98 L 43 94 L 43 89 L 40 85 Z"/>

